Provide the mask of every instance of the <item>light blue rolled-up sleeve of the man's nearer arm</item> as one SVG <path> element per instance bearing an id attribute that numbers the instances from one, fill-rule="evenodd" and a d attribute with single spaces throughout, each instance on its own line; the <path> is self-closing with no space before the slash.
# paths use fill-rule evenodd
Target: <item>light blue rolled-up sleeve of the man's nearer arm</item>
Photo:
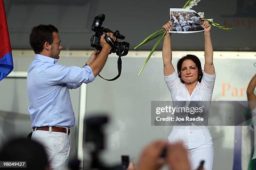
<path id="1" fill-rule="evenodd" d="M 44 70 L 43 77 L 45 81 L 50 85 L 67 83 L 68 88 L 77 88 L 82 83 L 92 82 L 95 77 L 92 69 L 87 65 L 81 67 L 67 67 L 63 65 L 51 65 Z"/>

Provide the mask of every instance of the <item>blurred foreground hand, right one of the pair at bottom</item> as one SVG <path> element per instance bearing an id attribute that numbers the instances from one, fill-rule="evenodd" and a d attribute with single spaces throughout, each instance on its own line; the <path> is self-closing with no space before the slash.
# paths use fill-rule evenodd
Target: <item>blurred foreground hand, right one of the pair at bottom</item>
<path id="1" fill-rule="evenodd" d="M 191 170 L 188 152 L 183 143 L 172 143 L 168 147 L 167 162 L 171 170 Z"/>

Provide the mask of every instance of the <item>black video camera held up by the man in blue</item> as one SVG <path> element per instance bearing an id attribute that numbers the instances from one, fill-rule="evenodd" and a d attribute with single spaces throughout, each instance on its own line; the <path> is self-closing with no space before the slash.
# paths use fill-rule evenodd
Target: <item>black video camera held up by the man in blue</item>
<path id="1" fill-rule="evenodd" d="M 94 18 L 93 24 L 92 24 L 92 31 L 95 32 L 95 35 L 92 35 L 91 37 L 91 47 L 96 48 L 97 50 L 101 50 L 102 47 L 100 45 L 100 36 L 103 34 L 106 34 L 107 32 L 112 32 L 114 36 L 117 39 L 124 40 L 125 36 L 121 35 L 118 30 L 115 32 L 111 31 L 108 28 L 102 27 L 102 23 L 105 20 L 105 15 L 100 14 Z M 112 50 L 110 53 L 116 53 L 118 56 L 122 57 L 128 54 L 129 51 L 129 43 L 128 42 L 118 42 L 110 38 L 109 36 L 105 36 L 105 40 L 108 42 L 109 45 L 111 45 Z"/>

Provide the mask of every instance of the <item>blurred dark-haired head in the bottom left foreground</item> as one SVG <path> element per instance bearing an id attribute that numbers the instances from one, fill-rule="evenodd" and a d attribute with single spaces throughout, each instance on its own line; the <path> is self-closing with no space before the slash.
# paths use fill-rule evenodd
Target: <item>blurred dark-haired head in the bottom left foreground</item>
<path id="1" fill-rule="evenodd" d="M 2 145 L 0 161 L 27 161 L 26 170 L 45 170 L 49 166 L 44 147 L 26 138 L 11 139 Z"/>

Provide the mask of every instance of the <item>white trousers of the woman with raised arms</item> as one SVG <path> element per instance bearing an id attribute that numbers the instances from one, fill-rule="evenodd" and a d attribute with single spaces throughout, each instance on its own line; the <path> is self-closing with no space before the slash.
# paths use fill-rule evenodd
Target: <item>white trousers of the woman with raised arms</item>
<path id="1" fill-rule="evenodd" d="M 190 163 L 192 170 L 197 169 L 201 160 L 205 160 L 204 168 L 205 170 L 212 170 L 213 166 L 213 143 L 210 140 L 207 144 L 202 145 L 197 148 L 189 149 Z"/>

